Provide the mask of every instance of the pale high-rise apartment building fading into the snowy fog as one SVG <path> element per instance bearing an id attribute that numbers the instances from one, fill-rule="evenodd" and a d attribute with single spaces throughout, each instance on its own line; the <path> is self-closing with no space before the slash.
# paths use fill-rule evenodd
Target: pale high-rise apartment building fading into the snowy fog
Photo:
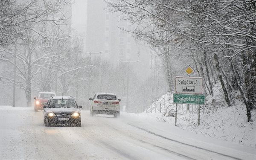
<path id="1" fill-rule="evenodd" d="M 84 52 L 103 52 L 104 58 L 134 61 L 139 59 L 139 47 L 134 38 L 122 29 L 128 22 L 116 13 L 108 12 L 103 0 L 87 0 L 86 47 Z"/>

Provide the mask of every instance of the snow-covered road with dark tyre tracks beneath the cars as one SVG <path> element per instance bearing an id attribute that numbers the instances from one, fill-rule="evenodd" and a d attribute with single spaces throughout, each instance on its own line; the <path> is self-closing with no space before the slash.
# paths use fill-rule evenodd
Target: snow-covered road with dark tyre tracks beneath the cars
<path id="1" fill-rule="evenodd" d="M 121 113 L 90 117 L 81 127 L 45 127 L 43 112 L 1 106 L 1 159 L 255 159 L 255 148 L 236 145 Z"/>

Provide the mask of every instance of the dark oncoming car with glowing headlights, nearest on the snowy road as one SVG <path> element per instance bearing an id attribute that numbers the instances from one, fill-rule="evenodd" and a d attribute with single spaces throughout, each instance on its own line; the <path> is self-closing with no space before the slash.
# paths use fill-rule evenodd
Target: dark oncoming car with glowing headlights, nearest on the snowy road
<path id="1" fill-rule="evenodd" d="M 72 96 L 54 96 L 44 105 L 44 125 L 81 127 L 80 108 Z"/>

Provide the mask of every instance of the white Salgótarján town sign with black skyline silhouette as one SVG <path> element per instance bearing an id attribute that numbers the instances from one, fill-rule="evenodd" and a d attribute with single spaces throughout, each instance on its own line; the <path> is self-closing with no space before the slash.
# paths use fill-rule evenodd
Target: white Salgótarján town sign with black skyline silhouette
<path id="1" fill-rule="evenodd" d="M 202 94 L 203 78 L 175 77 L 175 93 Z"/>

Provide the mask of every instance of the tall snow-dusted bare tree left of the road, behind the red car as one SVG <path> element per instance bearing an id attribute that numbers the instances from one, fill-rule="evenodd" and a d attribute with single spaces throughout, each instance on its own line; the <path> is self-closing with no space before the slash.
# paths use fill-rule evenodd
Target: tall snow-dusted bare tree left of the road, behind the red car
<path id="1" fill-rule="evenodd" d="M 1 3 L 9 8 L 8 11 L 1 8 L 1 31 L 2 29 L 8 31 L 1 36 L 1 61 L 18 66 L 17 82 L 15 83 L 25 91 L 27 106 L 31 106 L 32 80 L 42 68 L 47 67 L 47 60 L 56 57 L 56 53 L 45 52 L 45 46 L 41 46 L 41 44 L 44 44 L 42 42 L 47 39 L 57 39 L 51 34 L 47 35 L 49 32 L 44 32 L 44 29 L 60 28 L 59 25 L 65 24 L 67 18 L 65 13 L 61 12 L 61 7 L 68 3 L 57 1 L 44 1 L 42 3 L 37 0 L 20 4 L 15 1 L 3 0 Z M 10 36 L 6 36 L 6 33 Z M 57 40 L 61 41 L 61 38 Z M 9 48 L 9 44 L 13 43 L 18 43 L 18 46 L 15 44 L 17 52 Z M 17 64 L 15 64 L 16 59 L 18 60 Z M 6 80 L 5 77 L 1 74 L 3 80 Z M 14 75 L 13 79 L 15 77 Z"/>

